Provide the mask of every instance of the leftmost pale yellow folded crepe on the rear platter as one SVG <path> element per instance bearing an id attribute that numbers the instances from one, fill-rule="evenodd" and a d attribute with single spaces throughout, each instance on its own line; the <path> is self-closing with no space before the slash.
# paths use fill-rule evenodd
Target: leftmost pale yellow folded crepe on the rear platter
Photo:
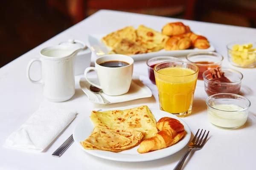
<path id="1" fill-rule="evenodd" d="M 114 48 L 122 39 L 136 41 L 137 35 L 133 26 L 128 26 L 117 31 L 111 32 L 102 38 L 102 41 L 110 48 Z"/>

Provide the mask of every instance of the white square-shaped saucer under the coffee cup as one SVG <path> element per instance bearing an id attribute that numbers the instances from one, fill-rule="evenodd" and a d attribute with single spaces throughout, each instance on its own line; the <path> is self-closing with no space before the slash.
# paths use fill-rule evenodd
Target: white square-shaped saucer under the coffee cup
<path id="1" fill-rule="evenodd" d="M 90 81 L 95 82 L 98 84 L 98 79 L 97 78 L 90 78 Z M 79 85 L 84 91 L 84 93 L 88 96 L 90 102 L 98 103 L 98 104 L 103 104 L 106 105 L 103 102 L 103 99 L 99 94 L 94 94 L 91 92 L 90 89 L 90 83 L 87 82 L 85 77 L 81 77 L 79 80 Z M 112 103 L 120 103 L 120 102 L 127 102 L 130 100 L 135 100 L 135 99 L 142 99 L 142 98 L 147 98 L 152 96 L 151 90 L 144 85 L 141 81 L 138 75 L 134 75 L 132 82 L 131 82 L 131 87 L 129 91 L 126 94 L 120 95 L 120 96 L 108 96 L 107 94 L 102 93 L 102 96 L 105 97 L 108 101 L 110 101 L 109 104 Z"/>

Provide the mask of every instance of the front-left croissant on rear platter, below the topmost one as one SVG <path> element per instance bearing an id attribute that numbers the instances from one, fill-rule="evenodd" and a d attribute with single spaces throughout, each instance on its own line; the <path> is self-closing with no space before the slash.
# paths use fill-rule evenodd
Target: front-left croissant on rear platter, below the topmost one
<path id="1" fill-rule="evenodd" d="M 185 50 L 192 46 L 192 42 L 189 37 L 184 35 L 173 36 L 166 41 L 164 49 L 169 50 Z"/>

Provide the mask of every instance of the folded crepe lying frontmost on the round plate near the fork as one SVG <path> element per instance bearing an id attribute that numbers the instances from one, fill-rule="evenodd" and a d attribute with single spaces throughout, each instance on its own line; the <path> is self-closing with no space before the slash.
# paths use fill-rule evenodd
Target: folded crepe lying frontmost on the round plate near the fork
<path id="1" fill-rule="evenodd" d="M 140 144 L 144 134 L 138 130 L 113 130 L 96 126 L 91 136 L 80 143 L 85 149 L 120 152 Z"/>

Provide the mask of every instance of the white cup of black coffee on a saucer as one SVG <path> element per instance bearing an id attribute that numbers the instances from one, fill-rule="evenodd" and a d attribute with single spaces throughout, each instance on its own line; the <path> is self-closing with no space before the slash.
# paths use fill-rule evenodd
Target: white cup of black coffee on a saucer
<path id="1" fill-rule="evenodd" d="M 104 62 L 110 61 L 126 62 L 129 65 L 115 68 L 100 65 Z M 133 66 L 134 59 L 132 59 L 131 57 L 121 54 L 109 54 L 96 59 L 95 67 L 86 68 L 84 71 L 84 75 L 91 85 L 102 89 L 103 93 L 109 96 L 119 96 L 129 91 L 133 73 Z M 87 78 L 87 73 L 90 70 L 94 70 L 97 72 L 99 85 L 96 85 Z"/>

